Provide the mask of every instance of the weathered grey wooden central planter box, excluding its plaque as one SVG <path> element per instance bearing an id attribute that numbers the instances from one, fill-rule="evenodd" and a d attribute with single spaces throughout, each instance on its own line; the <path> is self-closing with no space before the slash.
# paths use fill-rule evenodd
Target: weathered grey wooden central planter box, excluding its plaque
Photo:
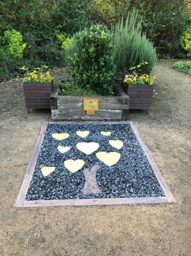
<path id="1" fill-rule="evenodd" d="M 116 96 L 60 96 L 58 87 L 51 93 L 53 120 L 127 120 L 129 96 L 119 85 L 115 85 Z M 83 99 L 99 99 L 99 110 L 87 115 L 83 110 Z"/>

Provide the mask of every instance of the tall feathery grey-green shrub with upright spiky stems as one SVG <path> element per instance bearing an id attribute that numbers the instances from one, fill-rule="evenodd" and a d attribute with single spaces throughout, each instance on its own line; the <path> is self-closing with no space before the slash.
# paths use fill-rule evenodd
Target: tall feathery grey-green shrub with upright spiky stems
<path id="1" fill-rule="evenodd" d="M 156 49 L 146 34 L 141 34 L 141 20 L 137 19 L 137 11 L 129 13 L 125 23 L 122 18 L 112 31 L 117 71 L 129 70 L 142 62 L 147 62 L 141 72 L 150 74 L 157 61 Z"/>

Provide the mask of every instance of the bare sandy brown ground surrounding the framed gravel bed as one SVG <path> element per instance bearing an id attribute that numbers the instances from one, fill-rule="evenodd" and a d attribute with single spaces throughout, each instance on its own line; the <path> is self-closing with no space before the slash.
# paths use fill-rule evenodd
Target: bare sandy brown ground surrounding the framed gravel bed
<path id="1" fill-rule="evenodd" d="M 150 114 L 130 112 L 175 204 L 14 208 L 42 123 L 21 80 L 0 84 L 0 255 L 191 255 L 191 77 L 158 61 Z M 63 70 L 54 73 L 65 76 Z"/>

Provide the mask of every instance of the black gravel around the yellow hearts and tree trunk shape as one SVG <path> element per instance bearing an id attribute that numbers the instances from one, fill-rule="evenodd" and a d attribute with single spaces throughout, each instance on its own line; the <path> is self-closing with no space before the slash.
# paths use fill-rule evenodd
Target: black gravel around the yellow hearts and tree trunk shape
<path id="1" fill-rule="evenodd" d="M 88 130 L 87 137 L 82 138 L 76 131 Z M 101 131 L 111 131 L 110 136 L 101 135 Z M 69 133 L 65 140 L 58 141 L 53 133 Z M 113 148 L 109 140 L 121 140 L 121 149 Z M 97 151 L 86 155 L 76 147 L 78 142 L 97 142 Z M 70 146 L 64 154 L 57 150 L 59 145 Z M 107 166 L 96 157 L 100 151 L 115 151 L 121 159 L 112 166 Z M 69 172 L 64 161 L 82 159 L 85 165 L 75 173 Z M 102 193 L 82 194 L 85 179 L 83 170 L 89 170 L 98 164 L 97 182 Z M 44 177 L 40 166 L 55 166 L 54 172 Z M 39 152 L 35 171 L 27 192 L 26 200 L 59 199 L 98 199 L 98 198 L 137 198 L 165 196 L 149 161 L 129 124 L 49 124 Z"/>

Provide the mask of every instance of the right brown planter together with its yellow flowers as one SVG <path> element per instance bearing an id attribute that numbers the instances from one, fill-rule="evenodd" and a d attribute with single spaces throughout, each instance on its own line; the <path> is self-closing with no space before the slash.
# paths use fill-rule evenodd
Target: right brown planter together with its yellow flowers
<path id="1" fill-rule="evenodd" d="M 147 113 L 149 112 L 155 79 L 155 76 L 149 74 L 138 76 L 135 72 L 126 77 L 123 90 L 130 98 L 129 109 L 147 109 Z"/>

